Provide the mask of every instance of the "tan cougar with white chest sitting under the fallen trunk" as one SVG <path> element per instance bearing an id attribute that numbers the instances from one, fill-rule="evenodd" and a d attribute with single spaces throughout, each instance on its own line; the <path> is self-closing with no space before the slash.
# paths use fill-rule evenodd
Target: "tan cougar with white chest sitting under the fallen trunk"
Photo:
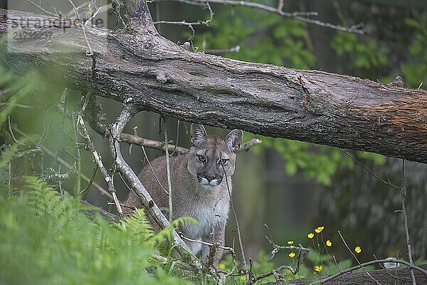
<path id="1" fill-rule="evenodd" d="M 192 124 L 190 134 L 189 151 L 184 155 L 170 157 L 172 213 L 174 219 L 193 217 L 199 223 L 181 225 L 177 231 L 189 239 L 223 245 L 230 204 L 231 175 L 243 132 L 232 130 L 225 138 L 221 138 L 218 135 L 207 135 L 203 125 Z M 138 177 L 157 206 L 166 209 L 163 212 L 168 217 L 166 157 L 157 157 L 151 165 L 144 167 Z M 133 192 L 125 204 L 142 207 Z M 130 214 L 129 211 L 127 214 Z M 201 253 L 203 259 L 208 257 L 209 246 L 200 242 L 184 242 L 194 254 Z M 222 249 L 216 251 L 214 266 L 218 266 L 222 254 Z"/>

